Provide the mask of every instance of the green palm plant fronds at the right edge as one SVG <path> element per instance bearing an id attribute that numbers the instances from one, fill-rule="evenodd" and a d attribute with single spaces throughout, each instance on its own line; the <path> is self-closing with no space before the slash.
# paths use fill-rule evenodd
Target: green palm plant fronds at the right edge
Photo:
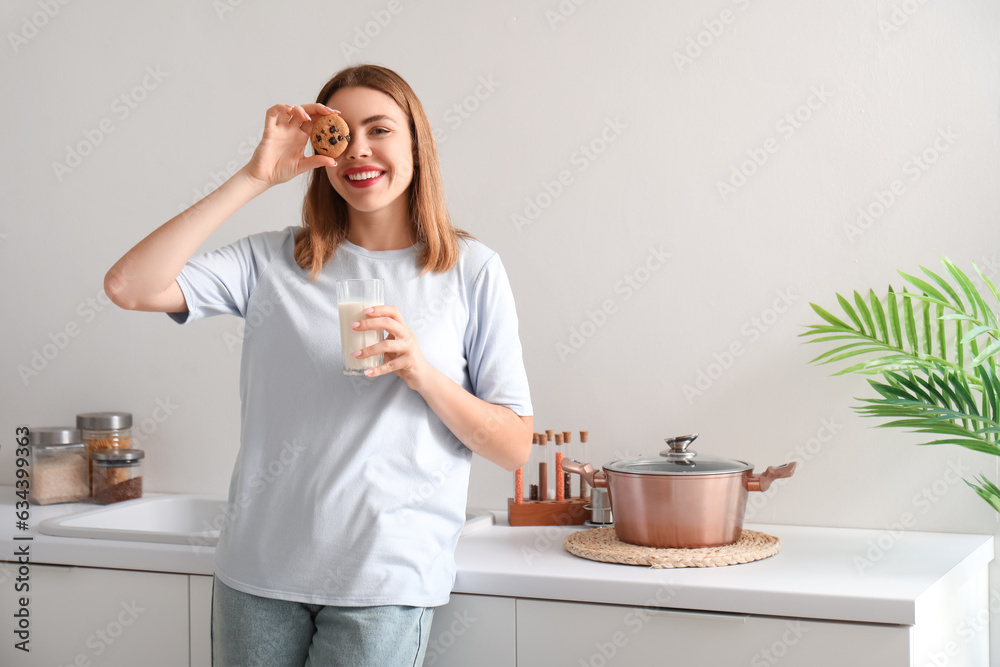
<path id="1" fill-rule="evenodd" d="M 998 315 L 976 284 L 945 258 L 945 277 L 920 267 L 925 277 L 899 272 L 915 291 L 889 287 L 880 299 L 837 294 L 845 319 L 810 304 L 823 323 L 801 336 L 810 343 L 838 344 L 810 363 L 854 361 L 834 375 L 858 373 L 879 398 L 859 398 L 855 410 L 888 420 L 880 427 L 929 434 L 922 445 L 952 444 L 1000 455 L 1000 356 Z M 1000 291 L 973 264 L 985 289 L 1000 303 Z M 984 289 L 984 291 L 985 291 Z M 846 320 L 846 321 L 845 321 Z M 930 439 L 928 439 L 930 438 Z M 1000 487 L 980 475 L 975 489 L 1000 511 Z"/>

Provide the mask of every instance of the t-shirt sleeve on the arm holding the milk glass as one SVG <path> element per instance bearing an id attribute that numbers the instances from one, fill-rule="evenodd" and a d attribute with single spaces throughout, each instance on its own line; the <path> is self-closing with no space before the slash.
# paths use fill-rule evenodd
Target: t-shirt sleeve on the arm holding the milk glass
<path id="1" fill-rule="evenodd" d="M 524 370 L 517 310 L 498 255 L 483 266 L 471 290 L 465 346 L 473 393 L 522 417 L 533 411 Z"/>

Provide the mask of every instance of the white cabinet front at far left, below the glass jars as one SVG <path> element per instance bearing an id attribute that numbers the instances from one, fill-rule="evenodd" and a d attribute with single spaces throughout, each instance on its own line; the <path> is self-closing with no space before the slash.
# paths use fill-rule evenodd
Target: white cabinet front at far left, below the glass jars
<path id="1" fill-rule="evenodd" d="M 188 577 L 159 572 L 30 565 L 29 590 L 16 591 L 5 563 L 0 617 L 11 628 L 27 598 L 29 652 L 10 629 L 0 664 L 24 667 L 187 665 Z M 21 582 L 24 583 L 24 582 Z"/>

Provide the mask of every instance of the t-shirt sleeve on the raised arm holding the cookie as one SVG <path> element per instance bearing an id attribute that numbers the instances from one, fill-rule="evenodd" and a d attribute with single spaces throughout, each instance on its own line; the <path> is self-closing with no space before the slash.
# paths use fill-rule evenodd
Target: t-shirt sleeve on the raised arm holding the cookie
<path id="1" fill-rule="evenodd" d="M 188 310 L 167 313 L 179 324 L 213 315 L 245 317 L 257 281 L 273 256 L 274 234 L 240 239 L 188 260 L 177 276 Z"/>

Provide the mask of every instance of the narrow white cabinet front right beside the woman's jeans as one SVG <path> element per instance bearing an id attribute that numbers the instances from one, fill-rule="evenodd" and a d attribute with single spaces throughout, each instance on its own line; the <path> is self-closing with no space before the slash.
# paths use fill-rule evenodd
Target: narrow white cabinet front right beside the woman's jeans
<path id="1" fill-rule="evenodd" d="M 514 605 L 513 598 L 453 594 L 434 611 L 424 667 L 516 665 Z"/>

